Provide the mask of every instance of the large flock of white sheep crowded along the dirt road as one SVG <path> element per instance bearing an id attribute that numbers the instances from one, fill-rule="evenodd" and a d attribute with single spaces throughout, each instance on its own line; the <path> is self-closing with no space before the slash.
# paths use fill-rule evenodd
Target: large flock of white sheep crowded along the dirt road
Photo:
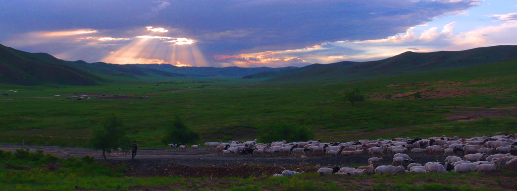
<path id="1" fill-rule="evenodd" d="M 352 167 L 323 167 L 317 170 L 320 174 L 348 174 L 364 173 L 399 173 L 399 172 L 483 172 L 496 169 L 517 170 L 517 134 L 482 136 L 472 138 L 429 137 L 421 138 L 393 138 L 377 140 L 357 140 L 349 142 L 322 142 L 310 140 L 302 142 L 270 142 L 268 144 L 253 141 L 206 142 L 208 150 L 216 150 L 217 154 L 227 155 L 261 155 L 261 156 L 294 156 L 307 158 L 308 156 L 360 156 L 369 155 L 367 166 Z M 181 146 L 178 146 L 181 147 Z M 185 149 L 186 146 L 183 147 Z M 193 147 L 194 148 L 194 147 Z M 199 148 L 197 145 L 195 148 Z M 424 165 L 414 163 L 405 153 L 413 154 L 443 154 L 449 155 L 444 162 L 428 162 Z M 380 165 L 383 157 L 393 154 L 391 165 Z M 514 155 L 512 155 L 514 154 Z M 463 157 L 459 157 L 463 156 Z M 303 173 L 284 170 L 273 176 L 294 176 Z"/>

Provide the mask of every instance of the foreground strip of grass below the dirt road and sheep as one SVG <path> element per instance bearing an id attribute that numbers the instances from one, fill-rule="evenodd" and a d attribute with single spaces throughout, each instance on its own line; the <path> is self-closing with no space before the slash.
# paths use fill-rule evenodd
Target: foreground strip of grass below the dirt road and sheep
<path id="1" fill-rule="evenodd" d="M 0 189 L 206 189 L 206 190 L 514 190 L 515 171 L 477 173 L 428 173 L 348 176 L 320 176 L 308 172 L 293 178 L 180 178 L 128 177 L 125 165 L 110 165 L 90 157 L 66 160 L 40 152 L 0 151 Z"/>

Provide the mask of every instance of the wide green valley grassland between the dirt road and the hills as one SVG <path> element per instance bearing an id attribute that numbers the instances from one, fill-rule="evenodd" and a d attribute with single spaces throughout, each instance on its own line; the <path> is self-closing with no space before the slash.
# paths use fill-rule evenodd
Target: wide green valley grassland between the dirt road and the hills
<path id="1" fill-rule="evenodd" d="M 315 137 L 329 141 L 514 133 L 515 66 L 517 61 L 509 60 L 446 72 L 332 83 L 262 83 L 238 78 L 153 82 L 149 78 L 102 86 L 2 85 L 2 93 L 8 95 L 0 97 L 7 100 L 0 101 L 0 139 L 12 144 L 24 140 L 27 145 L 69 146 L 72 142 L 75 147 L 89 147 L 92 131 L 110 114 L 121 118 L 130 137 L 144 148 L 162 146 L 164 125 L 174 116 L 199 131 L 201 141 L 252 139 L 256 126 L 269 121 L 305 125 Z M 345 102 L 343 95 L 351 88 L 359 88 L 369 99 L 355 105 Z M 416 91 L 421 91 L 422 99 L 409 95 Z M 70 98 L 85 94 L 149 98 Z M 478 113 L 472 121 L 447 120 Z"/>

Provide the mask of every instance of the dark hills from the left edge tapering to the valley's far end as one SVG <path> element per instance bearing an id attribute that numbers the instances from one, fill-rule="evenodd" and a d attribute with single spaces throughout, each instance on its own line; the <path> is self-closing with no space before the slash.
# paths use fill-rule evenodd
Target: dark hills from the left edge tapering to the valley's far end
<path id="1" fill-rule="evenodd" d="M 168 64 L 116 65 L 83 60 L 66 61 L 46 53 L 28 53 L 0 44 L 0 83 L 20 85 L 99 85 L 141 78 L 242 77 L 286 68 L 176 67 Z"/>

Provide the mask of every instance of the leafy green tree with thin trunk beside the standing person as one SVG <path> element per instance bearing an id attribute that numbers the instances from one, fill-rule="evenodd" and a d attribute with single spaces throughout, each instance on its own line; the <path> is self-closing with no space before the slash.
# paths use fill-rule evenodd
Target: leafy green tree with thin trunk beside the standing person
<path id="1" fill-rule="evenodd" d="M 90 142 L 96 150 L 102 150 L 104 160 L 108 160 L 106 151 L 118 148 L 129 149 L 131 144 L 122 121 L 115 116 L 108 117 L 104 121 L 103 128 L 94 132 Z"/>

